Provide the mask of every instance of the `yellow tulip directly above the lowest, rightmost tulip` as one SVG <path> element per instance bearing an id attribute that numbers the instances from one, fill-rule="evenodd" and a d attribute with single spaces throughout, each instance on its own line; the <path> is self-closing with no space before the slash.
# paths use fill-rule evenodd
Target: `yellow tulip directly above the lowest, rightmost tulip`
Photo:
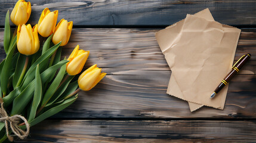
<path id="1" fill-rule="evenodd" d="M 66 68 L 67 73 L 72 76 L 80 73 L 87 61 L 87 58 L 89 57 L 89 54 L 90 51 L 84 51 L 82 49 L 79 50 L 79 45 L 77 45 L 69 58 L 67 58 L 67 60 L 69 60 Z"/>

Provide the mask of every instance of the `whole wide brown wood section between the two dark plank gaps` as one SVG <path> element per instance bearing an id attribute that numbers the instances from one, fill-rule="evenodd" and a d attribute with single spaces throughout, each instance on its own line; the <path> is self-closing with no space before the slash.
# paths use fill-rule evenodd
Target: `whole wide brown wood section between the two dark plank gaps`
<path id="1" fill-rule="evenodd" d="M 90 50 L 85 67 L 98 64 L 107 76 L 75 104 L 53 118 L 255 118 L 256 29 L 243 29 L 235 60 L 249 52 L 251 61 L 229 86 L 224 110 L 203 107 L 190 113 L 187 102 L 166 94 L 171 71 L 155 32 L 159 29 L 73 29 L 63 47 L 68 57 L 77 44 Z M 2 30 L 0 44 L 2 45 Z M 86 69 L 86 68 L 85 68 Z"/>

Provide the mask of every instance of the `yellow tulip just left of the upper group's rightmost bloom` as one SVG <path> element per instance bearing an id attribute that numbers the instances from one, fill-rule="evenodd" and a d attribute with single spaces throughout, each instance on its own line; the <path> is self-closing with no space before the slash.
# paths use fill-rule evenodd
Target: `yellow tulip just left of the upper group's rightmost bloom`
<path id="1" fill-rule="evenodd" d="M 58 11 L 51 12 L 49 8 L 42 11 L 38 21 L 38 33 L 43 37 L 48 37 L 53 34 L 57 23 Z"/>

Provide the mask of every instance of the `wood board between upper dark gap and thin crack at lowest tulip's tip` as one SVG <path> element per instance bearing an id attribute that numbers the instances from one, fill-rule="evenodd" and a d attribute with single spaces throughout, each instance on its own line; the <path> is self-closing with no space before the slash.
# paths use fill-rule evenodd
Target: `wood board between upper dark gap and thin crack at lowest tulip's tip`
<path id="1" fill-rule="evenodd" d="M 161 29 L 73 29 L 69 43 L 63 47 L 62 57 L 68 57 L 76 45 L 90 50 L 89 65 L 127 70 L 166 70 L 165 57 L 155 39 Z M 3 49 L 4 29 L 0 29 L 0 59 L 5 58 Z M 256 29 L 242 29 L 235 61 L 243 54 L 252 54 L 243 67 L 243 73 L 256 73 Z M 44 39 L 41 39 L 41 42 Z M 112 73 L 109 73 L 112 74 Z"/>

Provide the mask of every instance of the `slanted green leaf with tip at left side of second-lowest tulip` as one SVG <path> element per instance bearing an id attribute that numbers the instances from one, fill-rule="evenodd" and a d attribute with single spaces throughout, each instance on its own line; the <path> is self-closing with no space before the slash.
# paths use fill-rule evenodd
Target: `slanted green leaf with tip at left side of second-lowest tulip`
<path id="1" fill-rule="evenodd" d="M 60 68 L 60 71 L 58 71 L 57 76 L 55 77 L 55 79 L 53 80 L 53 82 L 45 92 L 44 97 L 42 99 L 41 107 L 44 107 L 47 104 L 47 102 L 51 99 L 51 97 L 53 97 L 55 91 L 57 91 L 57 88 L 60 85 L 61 80 L 63 79 L 65 71 L 66 71 L 66 64 L 64 64 Z"/>

